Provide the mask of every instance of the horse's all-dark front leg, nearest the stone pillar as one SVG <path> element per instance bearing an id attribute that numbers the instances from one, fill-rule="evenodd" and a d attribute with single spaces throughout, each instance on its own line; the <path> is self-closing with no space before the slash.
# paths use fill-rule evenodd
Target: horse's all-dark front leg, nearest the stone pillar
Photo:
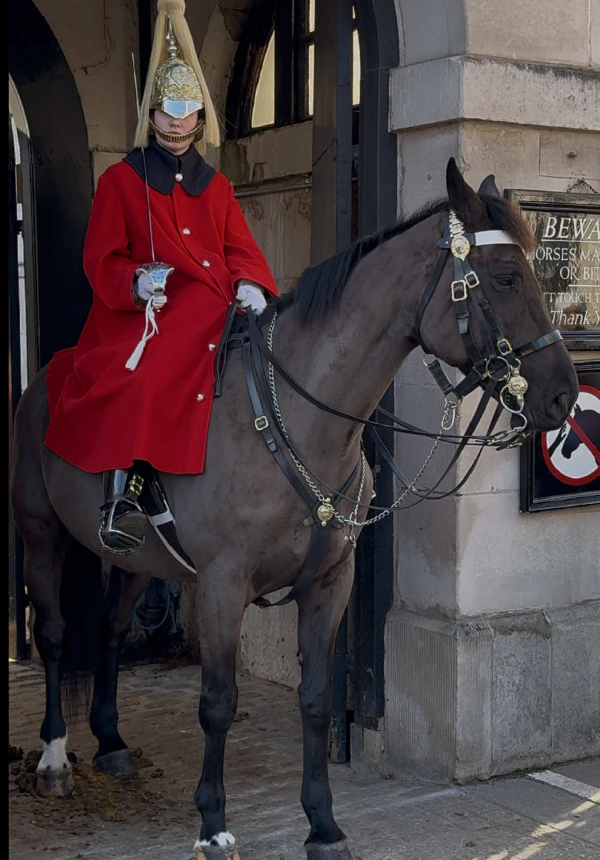
<path id="1" fill-rule="evenodd" d="M 315 581 L 298 600 L 304 761 L 300 800 L 311 826 L 307 860 L 351 860 L 331 811 L 327 772 L 333 660 L 337 630 L 354 577 L 354 553 Z"/>

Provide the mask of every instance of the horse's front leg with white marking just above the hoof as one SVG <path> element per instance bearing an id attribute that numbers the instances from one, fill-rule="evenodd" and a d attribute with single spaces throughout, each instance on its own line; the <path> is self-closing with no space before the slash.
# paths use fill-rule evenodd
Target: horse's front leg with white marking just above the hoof
<path id="1" fill-rule="evenodd" d="M 194 796 L 202 816 L 197 860 L 239 860 L 227 831 L 223 759 L 226 734 L 238 708 L 235 661 L 244 617 L 245 582 L 221 565 L 203 571 L 198 587 L 202 688 L 199 718 L 204 729 L 204 765 Z"/>

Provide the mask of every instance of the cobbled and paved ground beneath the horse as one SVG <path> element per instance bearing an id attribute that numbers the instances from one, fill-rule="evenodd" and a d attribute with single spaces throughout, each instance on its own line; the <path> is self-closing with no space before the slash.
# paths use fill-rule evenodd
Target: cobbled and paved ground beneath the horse
<path id="1" fill-rule="evenodd" d="M 9 664 L 9 744 L 25 753 L 40 748 L 42 679 L 39 667 Z M 22 793 L 9 765 L 9 857 L 191 860 L 203 749 L 199 681 L 195 666 L 122 670 L 121 734 L 141 747 L 139 777 L 119 781 L 91 771 L 95 746 L 84 717 L 69 728 L 68 748 L 79 759 L 71 799 Z M 242 860 L 303 860 L 296 693 L 244 675 L 238 684 L 226 753 L 229 829 Z M 577 779 L 566 780 L 569 790 L 528 777 L 440 786 L 366 777 L 345 765 L 330 771 L 334 811 L 355 860 L 600 857 L 598 785 L 578 794 Z M 599 783 L 597 771 L 592 762 L 582 772 Z"/>

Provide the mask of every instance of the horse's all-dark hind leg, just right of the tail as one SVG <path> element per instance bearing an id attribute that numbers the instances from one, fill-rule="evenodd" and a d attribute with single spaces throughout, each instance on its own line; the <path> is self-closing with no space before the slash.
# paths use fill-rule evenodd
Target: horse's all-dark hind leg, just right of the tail
<path id="1" fill-rule="evenodd" d="M 137 771 L 127 744 L 117 728 L 117 681 L 119 658 L 131 626 L 133 606 L 149 581 L 150 577 L 145 574 L 127 574 L 119 568 L 113 568 L 104 599 L 101 652 L 94 675 L 90 728 L 98 740 L 94 767 L 113 777 L 126 777 Z"/>

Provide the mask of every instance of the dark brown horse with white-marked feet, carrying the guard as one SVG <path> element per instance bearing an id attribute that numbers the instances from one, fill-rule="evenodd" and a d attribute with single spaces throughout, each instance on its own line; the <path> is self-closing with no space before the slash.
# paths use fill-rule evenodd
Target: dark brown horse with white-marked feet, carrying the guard
<path id="1" fill-rule="evenodd" d="M 346 518 L 344 522 L 358 510 L 353 537 L 366 518 L 366 507 L 355 507 L 353 500 L 368 506 L 374 488 L 368 465 L 357 469 L 361 421 L 374 413 L 399 366 L 419 344 L 471 378 L 473 354 L 485 354 L 490 341 L 482 322 L 484 317 L 492 319 L 497 341 L 492 347 L 501 353 L 493 366 L 504 366 L 503 362 L 508 366 L 517 352 L 523 356 L 517 365 L 522 366 L 529 389 L 524 400 L 519 394 L 520 408 L 512 411 L 531 430 L 560 427 L 578 394 L 577 377 L 560 335 L 547 335 L 550 317 L 523 253 L 535 247 L 529 227 L 501 198 L 492 175 L 476 192 L 450 159 L 446 186 L 448 200 L 437 200 L 414 217 L 309 268 L 295 291 L 277 305 L 274 357 L 338 414 L 307 405 L 294 385 L 281 378 L 278 408 L 301 461 L 318 476 L 315 486 L 323 494 L 327 487 L 343 488 L 343 495 L 329 502 L 331 507 Z M 475 238 L 467 257 L 468 241 L 455 245 L 453 231 L 448 234 L 453 223 L 456 233 L 456 218 L 467 231 L 459 240 L 487 237 L 481 247 Z M 442 234 L 445 244 L 438 243 Z M 442 263 L 434 263 L 436 243 L 446 249 Z M 465 259 L 473 270 L 461 268 L 467 265 Z M 457 277 L 457 266 L 464 279 Z M 473 307 L 465 326 L 463 311 L 476 292 L 475 281 L 485 300 Z M 461 315 L 463 323 L 459 321 L 457 328 Z M 523 347 L 509 354 L 512 343 Z M 96 629 L 84 624 L 83 631 L 86 642 L 96 637 L 98 643 L 93 666 L 88 667 L 94 675 L 90 728 L 98 742 L 94 764 L 113 775 L 134 770 L 119 734 L 116 708 L 119 655 L 133 606 L 152 577 L 196 581 L 202 668 L 199 722 L 205 756 L 195 792 L 201 814 L 195 851 L 202 860 L 239 857 L 226 827 L 223 759 L 237 707 L 236 649 L 244 611 L 264 594 L 294 587 L 312 532 L 312 526 L 306 528 L 306 519 L 311 518 L 305 501 L 274 463 L 262 433 L 255 431 L 263 425 L 251 407 L 240 353 L 230 353 L 222 393 L 214 402 L 205 472 L 161 476 L 195 576 L 176 563 L 152 532 L 130 555 L 102 553 L 98 538 L 102 476 L 84 473 L 44 447 L 48 415 L 43 370 L 24 392 L 15 415 L 12 504 L 25 548 L 35 642 L 46 673 L 38 792 L 65 796 L 73 784 L 61 710 L 61 672 L 69 668 L 66 640 L 72 639 L 65 596 L 90 585 L 90 560 L 101 558 L 104 569 L 102 599 L 93 601 Z M 489 384 L 491 375 L 492 371 L 479 373 L 477 384 Z M 495 399 L 502 396 L 498 389 L 503 384 L 492 383 Z M 281 443 L 281 433 L 278 438 Z M 311 581 L 296 595 L 304 745 L 300 802 L 310 827 L 305 842 L 308 860 L 351 860 L 331 810 L 327 751 L 334 643 L 352 587 L 355 541 L 349 539 L 345 525 L 329 528 L 328 536 Z M 94 649 L 89 653 L 94 656 Z M 82 654 L 79 646 L 77 654 Z"/>

